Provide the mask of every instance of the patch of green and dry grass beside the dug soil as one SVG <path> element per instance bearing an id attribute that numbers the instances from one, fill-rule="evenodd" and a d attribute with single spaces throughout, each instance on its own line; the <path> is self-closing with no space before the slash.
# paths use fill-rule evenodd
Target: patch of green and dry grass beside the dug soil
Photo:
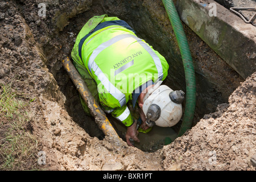
<path id="1" fill-rule="evenodd" d="M 36 169 L 38 142 L 26 129 L 29 103 L 12 84 L 0 84 L 0 170 Z"/>

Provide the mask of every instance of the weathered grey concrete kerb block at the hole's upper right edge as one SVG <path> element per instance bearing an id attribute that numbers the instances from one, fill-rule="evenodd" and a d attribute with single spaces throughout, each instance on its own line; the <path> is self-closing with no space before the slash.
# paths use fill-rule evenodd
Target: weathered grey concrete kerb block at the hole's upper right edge
<path id="1" fill-rule="evenodd" d="M 256 27 L 213 0 L 177 0 L 181 20 L 243 78 L 256 71 Z"/>

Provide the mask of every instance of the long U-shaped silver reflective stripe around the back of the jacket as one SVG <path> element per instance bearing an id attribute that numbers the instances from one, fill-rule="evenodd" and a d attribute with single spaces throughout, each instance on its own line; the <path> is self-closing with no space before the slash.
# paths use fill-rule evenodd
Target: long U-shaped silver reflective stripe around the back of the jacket
<path id="1" fill-rule="evenodd" d="M 120 106 L 123 106 L 126 104 L 126 98 L 125 94 L 123 94 L 120 90 L 115 88 L 115 86 L 109 81 L 109 79 L 105 76 L 105 74 L 101 71 L 101 69 L 98 67 L 98 65 L 95 63 L 95 59 L 98 56 L 98 54 L 103 51 L 105 48 L 108 48 L 109 46 L 112 46 L 114 43 L 118 42 L 119 40 L 126 39 L 126 38 L 134 38 L 137 40 L 137 42 L 144 48 L 146 51 L 151 55 L 152 59 L 154 60 L 154 63 L 156 65 L 156 69 L 158 70 L 158 79 L 162 80 L 163 78 L 163 68 L 162 63 L 159 59 L 159 57 L 155 54 L 155 52 L 152 50 L 150 46 L 148 46 L 146 43 L 142 41 L 142 39 L 139 39 L 135 35 L 131 34 L 121 34 L 117 35 L 114 38 L 100 44 L 96 49 L 94 49 L 92 55 L 90 55 L 89 61 L 88 61 L 88 68 L 90 73 L 92 73 L 92 70 L 94 71 L 94 74 L 98 77 L 98 79 L 101 81 L 102 85 L 104 85 L 105 89 L 112 94 L 112 96 L 119 101 Z"/>

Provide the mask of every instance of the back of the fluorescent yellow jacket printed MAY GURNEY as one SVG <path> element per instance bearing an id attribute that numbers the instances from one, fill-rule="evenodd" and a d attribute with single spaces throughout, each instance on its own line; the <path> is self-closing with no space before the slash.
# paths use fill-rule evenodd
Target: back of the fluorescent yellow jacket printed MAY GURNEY
<path id="1" fill-rule="evenodd" d="M 121 93 L 126 97 L 120 105 L 108 104 L 110 107 L 123 106 L 136 88 L 149 80 L 163 80 L 168 71 L 163 56 L 132 31 L 115 25 L 102 28 L 85 40 L 82 61 L 97 82 L 98 92 L 105 94 L 103 97 L 111 94 L 118 98 Z M 105 101 L 109 99 L 101 102 Z"/>

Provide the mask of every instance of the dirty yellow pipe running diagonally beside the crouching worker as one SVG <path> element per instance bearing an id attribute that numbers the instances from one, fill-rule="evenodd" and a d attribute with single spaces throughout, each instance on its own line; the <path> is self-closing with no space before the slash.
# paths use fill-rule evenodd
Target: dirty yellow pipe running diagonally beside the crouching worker
<path id="1" fill-rule="evenodd" d="M 90 93 L 84 80 L 82 80 L 79 72 L 77 72 L 72 62 L 69 60 L 68 57 L 65 57 L 62 62 L 65 70 L 68 73 L 68 76 L 76 85 L 76 88 L 79 91 L 81 97 L 84 99 L 85 103 L 89 107 L 90 114 L 92 114 L 92 116 L 95 118 L 95 122 L 97 123 L 98 127 L 100 127 L 100 129 L 106 136 L 110 137 L 112 140 L 114 139 L 115 142 L 121 141 L 117 132 L 114 130 L 113 126 L 109 122 L 109 119 L 106 117 L 106 114 Z M 118 143 L 121 144 L 121 142 Z"/>

